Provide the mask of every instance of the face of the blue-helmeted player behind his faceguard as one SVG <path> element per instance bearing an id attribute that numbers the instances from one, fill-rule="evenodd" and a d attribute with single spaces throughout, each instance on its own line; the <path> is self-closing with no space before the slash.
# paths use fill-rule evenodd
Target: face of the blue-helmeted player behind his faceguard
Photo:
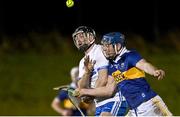
<path id="1" fill-rule="evenodd" d="M 116 56 L 116 52 L 112 44 L 103 44 L 102 49 L 107 59 L 114 59 Z"/>

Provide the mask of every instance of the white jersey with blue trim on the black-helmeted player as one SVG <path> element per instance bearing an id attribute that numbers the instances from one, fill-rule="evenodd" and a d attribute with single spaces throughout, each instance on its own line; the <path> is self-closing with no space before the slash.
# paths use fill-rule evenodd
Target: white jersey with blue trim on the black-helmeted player
<path id="1" fill-rule="evenodd" d="M 91 76 L 91 84 L 90 84 L 91 88 L 95 88 L 95 83 L 98 79 L 98 71 L 100 69 L 107 68 L 109 61 L 103 55 L 101 46 L 97 44 L 93 46 L 93 48 L 89 51 L 87 55 L 89 55 L 90 60 L 96 61 L 93 69 L 93 74 Z M 79 63 L 79 78 L 82 78 L 84 73 L 85 70 L 84 70 L 84 57 L 83 57 Z M 111 101 L 119 101 L 120 100 L 119 97 L 120 97 L 119 93 L 116 93 L 115 96 L 112 98 L 95 99 L 96 107 L 104 105 Z"/>

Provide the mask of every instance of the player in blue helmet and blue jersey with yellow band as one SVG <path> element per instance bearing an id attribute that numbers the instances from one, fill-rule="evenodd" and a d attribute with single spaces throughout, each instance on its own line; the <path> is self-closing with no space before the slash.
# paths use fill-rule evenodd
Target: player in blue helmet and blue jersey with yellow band
<path id="1" fill-rule="evenodd" d="M 76 89 L 79 96 L 110 96 L 117 88 L 129 105 L 128 116 L 172 116 L 145 79 L 145 73 L 163 79 L 165 72 L 147 62 L 136 50 L 126 49 L 125 37 L 119 32 L 105 34 L 101 44 L 109 60 L 108 80 L 111 83 L 96 89 Z M 86 67 L 91 70 L 92 61 L 86 61 L 89 62 Z"/>

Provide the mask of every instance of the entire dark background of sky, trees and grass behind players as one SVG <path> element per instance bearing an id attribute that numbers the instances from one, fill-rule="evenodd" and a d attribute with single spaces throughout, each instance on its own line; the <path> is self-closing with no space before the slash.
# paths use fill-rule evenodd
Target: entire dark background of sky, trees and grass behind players
<path id="1" fill-rule="evenodd" d="M 165 70 L 163 80 L 147 80 L 173 115 L 180 115 L 178 1 L 74 2 L 68 8 L 66 0 L 0 1 L 0 115 L 59 115 L 51 108 L 58 93 L 52 89 L 71 82 L 69 72 L 84 56 L 71 37 L 79 25 L 98 36 L 125 33 L 127 48 Z"/>

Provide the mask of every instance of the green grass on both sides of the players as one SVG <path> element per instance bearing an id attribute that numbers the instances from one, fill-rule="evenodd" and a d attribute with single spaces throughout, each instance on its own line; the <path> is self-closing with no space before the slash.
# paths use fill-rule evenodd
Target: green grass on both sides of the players
<path id="1" fill-rule="evenodd" d="M 79 53 L 1 55 L 0 115 L 58 115 L 50 104 L 57 92 L 54 86 L 70 82 L 69 70 L 78 64 Z M 180 115 L 180 54 L 146 55 L 166 71 L 162 81 L 148 76 L 152 88 L 174 115 Z"/>

